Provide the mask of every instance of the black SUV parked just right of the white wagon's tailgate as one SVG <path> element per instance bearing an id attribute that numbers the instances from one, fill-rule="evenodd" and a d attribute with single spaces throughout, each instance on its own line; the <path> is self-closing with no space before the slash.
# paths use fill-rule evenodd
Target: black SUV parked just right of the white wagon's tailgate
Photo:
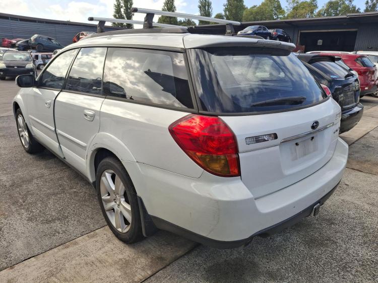
<path id="1" fill-rule="evenodd" d="M 298 58 L 320 84 L 328 87 L 333 99 L 339 103 L 342 111 L 340 133 L 353 128 L 363 113 L 357 76 L 335 63 L 335 56 L 298 54 Z"/>

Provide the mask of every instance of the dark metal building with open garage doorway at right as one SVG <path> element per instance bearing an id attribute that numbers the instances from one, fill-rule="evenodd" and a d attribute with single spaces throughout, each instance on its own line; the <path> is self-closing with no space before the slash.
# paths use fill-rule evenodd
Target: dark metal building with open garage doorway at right
<path id="1" fill-rule="evenodd" d="M 243 22 L 235 31 L 247 26 L 263 25 L 268 29 L 283 29 L 293 43 L 304 45 L 305 51 L 378 51 L 378 12 L 346 16 Z M 209 25 L 224 33 L 224 25 Z M 218 32 L 217 32 L 218 33 Z"/>

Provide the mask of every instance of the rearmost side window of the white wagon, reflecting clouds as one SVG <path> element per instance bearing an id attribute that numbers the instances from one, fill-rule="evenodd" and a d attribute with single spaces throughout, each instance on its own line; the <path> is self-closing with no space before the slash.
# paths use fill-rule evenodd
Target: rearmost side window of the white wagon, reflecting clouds
<path id="1" fill-rule="evenodd" d="M 193 108 L 182 53 L 109 48 L 104 69 L 104 94 Z"/>

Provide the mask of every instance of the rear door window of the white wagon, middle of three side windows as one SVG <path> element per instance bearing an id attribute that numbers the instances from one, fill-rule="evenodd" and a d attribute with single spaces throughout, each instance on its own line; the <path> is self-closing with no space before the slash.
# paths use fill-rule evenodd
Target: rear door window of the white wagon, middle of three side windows
<path id="1" fill-rule="evenodd" d="M 105 47 L 80 49 L 72 65 L 66 90 L 101 94 L 102 69 L 105 54 Z"/>

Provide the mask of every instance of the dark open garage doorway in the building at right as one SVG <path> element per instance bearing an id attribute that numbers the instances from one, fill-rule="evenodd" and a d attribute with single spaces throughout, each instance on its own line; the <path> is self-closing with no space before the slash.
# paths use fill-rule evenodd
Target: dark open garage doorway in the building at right
<path id="1" fill-rule="evenodd" d="M 299 45 L 308 51 L 354 51 L 357 29 L 299 31 Z"/>

